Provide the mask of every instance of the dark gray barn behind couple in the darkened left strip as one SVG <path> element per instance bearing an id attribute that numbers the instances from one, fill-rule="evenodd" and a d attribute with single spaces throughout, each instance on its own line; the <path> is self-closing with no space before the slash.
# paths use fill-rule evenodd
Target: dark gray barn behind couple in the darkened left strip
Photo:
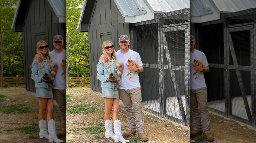
<path id="1" fill-rule="evenodd" d="M 54 35 L 65 39 L 65 0 L 19 0 L 12 23 L 12 31 L 23 32 L 25 88 L 35 92 L 31 79 L 31 64 L 36 43 L 45 40 L 53 48 Z M 64 44 L 65 45 L 65 44 Z"/>

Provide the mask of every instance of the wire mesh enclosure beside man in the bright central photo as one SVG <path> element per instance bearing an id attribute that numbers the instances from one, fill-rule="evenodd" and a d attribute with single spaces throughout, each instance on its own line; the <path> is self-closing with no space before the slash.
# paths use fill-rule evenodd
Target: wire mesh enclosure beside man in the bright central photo
<path id="1" fill-rule="evenodd" d="M 140 54 L 142 106 L 190 127 L 190 8 L 131 24 L 131 49 Z"/>

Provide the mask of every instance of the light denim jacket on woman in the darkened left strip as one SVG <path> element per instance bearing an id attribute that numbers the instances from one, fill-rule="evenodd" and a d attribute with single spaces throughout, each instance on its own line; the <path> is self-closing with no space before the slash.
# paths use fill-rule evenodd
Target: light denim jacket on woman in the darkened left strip
<path id="1" fill-rule="evenodd" d="M 52 87 L 51 83 L 46 83 L 41 81 L 42 77 L 45 73 L 49 73 L 49 62 L 47 62 L 47 59 L 43 60 L 44 62 L 44 71 L 42 72 L 41 63 L 37 61 L 33 61 L 32 67 L 31 67 L 31 78 L 35 81 L 35 87 L 36 88 L 49 88 Z M 51 77 L 51 80 L 54 82 L 54 77 Z M 49 84 L 49 85 L 48 85 Z"/>

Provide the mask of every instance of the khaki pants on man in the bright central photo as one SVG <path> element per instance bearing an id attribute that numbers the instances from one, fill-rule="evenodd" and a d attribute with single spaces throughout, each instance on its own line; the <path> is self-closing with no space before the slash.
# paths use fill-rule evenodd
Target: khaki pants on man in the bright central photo
<path id="1" fill-rule="evenodd" d="M 128 129 L 136 131 L 136 123 L 138 133 L 145 133 L 145 126 L 143 120 L 143 111 L 141 103 L 141 87 L 134 89 L 118 89 L 120 92 L 121 100 L 124 104 L 125 114 L 127 117 Z M 135 117 L 133 114 L 135 110 Z M 135 123 L 136 122 L 136 123 Z"/>

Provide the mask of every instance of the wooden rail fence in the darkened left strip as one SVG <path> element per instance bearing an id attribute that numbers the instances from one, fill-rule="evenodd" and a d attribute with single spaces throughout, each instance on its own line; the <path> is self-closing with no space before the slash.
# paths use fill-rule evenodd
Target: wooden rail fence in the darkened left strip
<path id="1" fill-rule="evenodd" d="M 3 87 L 7 85 L 8 87 L 11 86 L 21 86 L 25 84 L 24 77 L 7 77 L 3 76 Z"/>

